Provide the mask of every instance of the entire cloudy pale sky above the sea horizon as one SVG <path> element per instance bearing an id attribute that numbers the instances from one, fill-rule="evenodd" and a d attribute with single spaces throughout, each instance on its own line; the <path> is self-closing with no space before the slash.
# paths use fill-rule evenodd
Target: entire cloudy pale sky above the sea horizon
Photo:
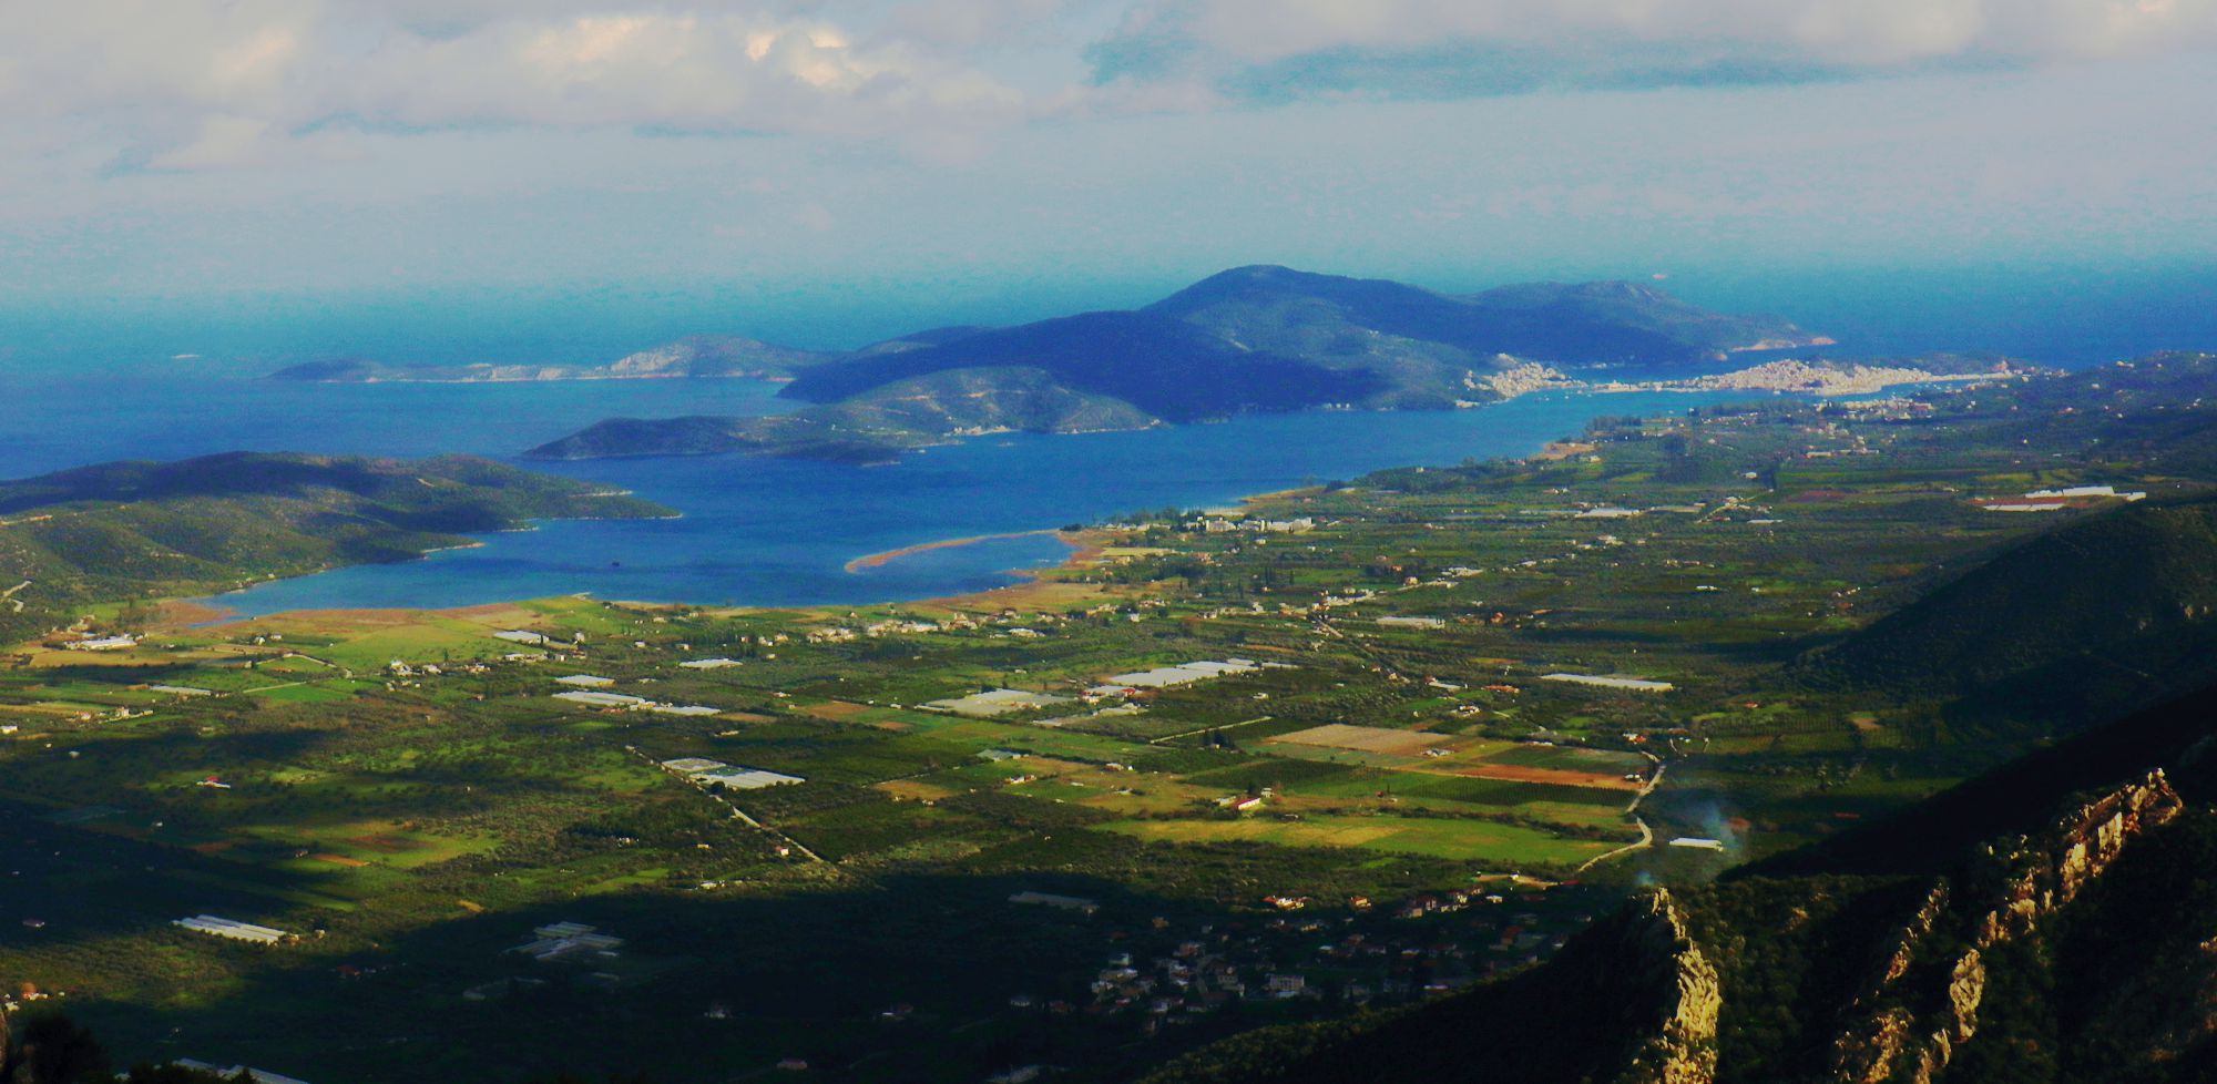
<path id="1" fill-rule="evenodd" d="M 2210 264 L 2217 0 L 0 0 L 0 310 Z"/>

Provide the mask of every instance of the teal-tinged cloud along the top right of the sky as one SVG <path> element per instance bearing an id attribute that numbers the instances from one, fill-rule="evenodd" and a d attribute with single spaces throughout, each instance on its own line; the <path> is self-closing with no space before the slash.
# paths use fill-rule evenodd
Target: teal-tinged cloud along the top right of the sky
<path id="1" fill-rule="evenodd" d="M 1100 86 L 1233 100 L 1811 82 L 2206 49 L 2217 0 L 1148 0 Z"/>

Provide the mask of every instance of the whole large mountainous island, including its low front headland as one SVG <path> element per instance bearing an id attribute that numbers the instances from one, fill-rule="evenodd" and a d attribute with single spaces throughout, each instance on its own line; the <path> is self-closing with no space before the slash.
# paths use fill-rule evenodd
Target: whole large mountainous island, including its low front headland
<path id="1" fill-rule="evenodd" d="M 607 419 L 534 459 L 758 452 L 887 461 L 989 432 L 1095 432 L 1266 410 L 1445 410 L 1528 364 L 1616 379 L 1829 346 L 1780 317 L 1629 282 L 1443 295 L 1386 279 L 1233 268 L 1137 310 L 933 328 L 791 366 L 778 417 Z"/>

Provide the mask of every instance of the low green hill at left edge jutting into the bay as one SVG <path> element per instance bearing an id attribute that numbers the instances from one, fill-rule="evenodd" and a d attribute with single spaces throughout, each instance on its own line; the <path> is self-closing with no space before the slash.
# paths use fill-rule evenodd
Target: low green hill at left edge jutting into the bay
<path id="1" fill-rule="evenodd" d="M 91 601 L 408 561 L 532 519 L 665 514 L 477 457 L 228 452 L 62 470 L 0 483 L 0 636 L 42 634 Z"/>

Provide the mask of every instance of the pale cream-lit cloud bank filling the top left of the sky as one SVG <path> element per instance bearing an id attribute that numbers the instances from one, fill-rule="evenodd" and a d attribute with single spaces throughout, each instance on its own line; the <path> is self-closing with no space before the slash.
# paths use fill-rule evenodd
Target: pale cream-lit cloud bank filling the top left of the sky
<path id="1" fill-rule="evenodd" d="M 0 13 L 0 115 L 211 168 L 335 124 L 907 137 L 1024 98 L 958 51 L 736 4 L 80 0 Z"/>

